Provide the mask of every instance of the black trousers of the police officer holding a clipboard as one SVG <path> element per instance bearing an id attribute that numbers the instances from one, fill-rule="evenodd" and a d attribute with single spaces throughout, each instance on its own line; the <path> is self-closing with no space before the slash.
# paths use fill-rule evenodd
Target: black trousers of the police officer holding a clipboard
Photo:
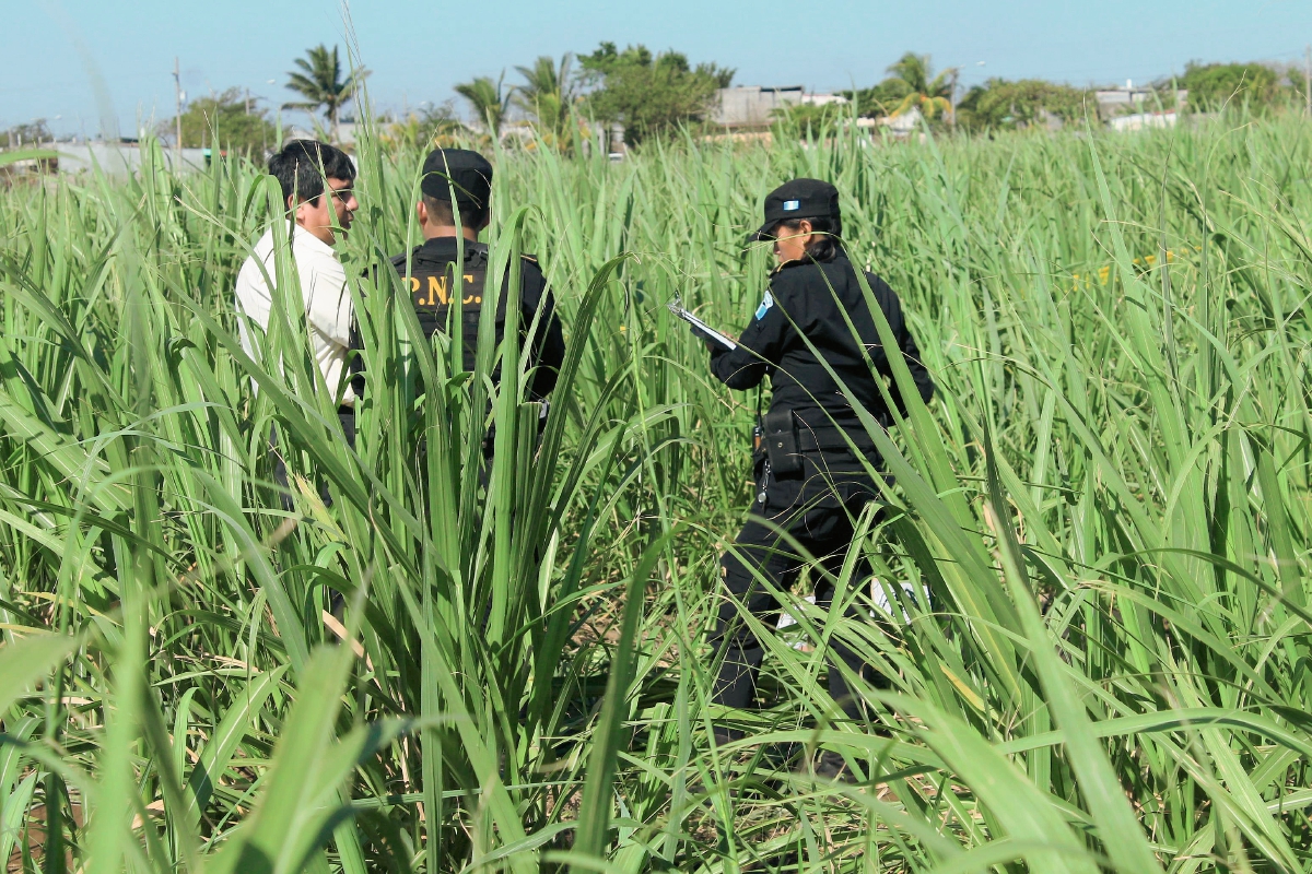
<path id="1" fill-rule="evenodd" d="M 846 452 L 806 452 L 802 473 L 794 478 L 775 478 L 764 453 L 756 459 L 754 469 L 758 498 L 735 549 L 720 560 L 724 594 L 731 598 L 722 601 L 711 634 L 711 645 L 724 653 L 714 701 L 731 708 L 745 708 L 756 698 L 756 681 L 765 658 L 765 647 L 743 621 L 739 604 L 765 625 L 774 625 L 779 603 L 758 580 L 758 574 L 777 591 L 787 592 L 804 565 L 802 554 L 783 541 L 778 531 L 787 532 L 824 571 L 837 575 L 851 545 L 851 523 L 878 494 L 874 481 Z M 833 603 L 833 579 L 828 574 L 821 574 L 816 584 L 816 605 L 821 609 Z M 865 578 L 869 571 L 862 570 L 861 575 Z M 855 607 L 849 607 L 846 616 L 870 621 Z M 859 718 L 861 702 L 851 696 L 834 659 L 858 675 L 866 670 L 865 664 L 840 641 L 833 641 L 828 658 L 829 694 L 849 717 Z"/>

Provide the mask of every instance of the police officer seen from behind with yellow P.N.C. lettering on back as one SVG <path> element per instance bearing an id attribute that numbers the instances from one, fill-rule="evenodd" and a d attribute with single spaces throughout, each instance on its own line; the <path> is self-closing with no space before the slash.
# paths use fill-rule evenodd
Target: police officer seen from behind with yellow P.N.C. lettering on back
<path id="1" fill-rule="evenodd" d="M 474 371 L 479 320 L 483 307 L 493 303 L 484 296 L 488 248 L 478 241 L 491 221 L 488 199 L 492 194 L 492 165 L 482 155 L 468 149 L 433 149 L 424 160 L 420 191 L 422 197 L 416 210 L 424 244 L 392 258 L 392 266 L 403 278 L 407 276 L 407 266 L 409 269 L 411 301 L 425 337 L 449 330 L 454 295 L 459 291 L 464 370 Z M 459 208 L 459 225 L 453 208 L 453 194 L 454 204 Z M 458 270 L 457 258 L 462 246 L 464 262 Z M 495 301 L 497 345 L 505 338 L 509 282 L 508 274 L 506 287 L 502 287 Z M 564 363 L 565 342 L 560 320 L 555 314 L 555 300 L 533 256 L 522 256 L 517 303 L 521 339 L 527 338 L 534 317 L 539 311 L 542 313 L 531 338 L 529 400 L 546 401 Z M 516 364 L 510 362 L 509 366 Z"/>

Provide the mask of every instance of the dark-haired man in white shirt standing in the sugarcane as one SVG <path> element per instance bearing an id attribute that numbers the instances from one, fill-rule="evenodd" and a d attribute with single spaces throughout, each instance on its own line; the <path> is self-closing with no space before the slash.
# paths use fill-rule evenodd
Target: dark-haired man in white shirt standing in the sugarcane
<path id="1" fill-rule="evenodd" d="M 349 379 L 344 383 L 354 307 L 346 271 L 333 250 L 337 235 L 350 229 L 359 202 L 356 200 L 356 168 L 338 148 L 316 140 L 293 140 L 269 159 L 269 173 L 282 187 L 282 199 L 291 225 L 291 257 L 295 259 L 304 300 L 306 328 L 315 362 L 333 398 L 346 439 L 354 444 L 356 396 Z M 286 257 L 286 253 L 283 253 Z M 255 245 L 237 274 L 237 309 L 262 330 L 269 330 L 273 311 L 270 280 L 277 280 L 274 233 L 269 228 Z M 241 346 L 258 359 L 255 338 L 245 318 L 240 324 Z M 264 343 L 261 343 L 264 346 Z M 274 480 L 286 486 L 286 468 L 274 452 Z"/>

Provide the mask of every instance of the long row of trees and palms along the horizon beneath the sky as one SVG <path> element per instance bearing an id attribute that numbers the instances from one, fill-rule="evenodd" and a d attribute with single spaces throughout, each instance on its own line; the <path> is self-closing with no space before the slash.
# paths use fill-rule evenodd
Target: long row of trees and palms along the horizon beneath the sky
<path id="1" fill-rule="evenodd" d="M 209 147 L 219 132 L 224 148 L 264 153 L 283 130 L 281 110 L 310 114 L 314 132 L 341 140 L 340 122 L 353 121 L 354 101 L 365 68 L 344 68 L 337 47 L 315 46 L 294 59 L 286 86 L 300 100 L 278 106 L 278 117 L 249 90 L 228 88 L 194 98 L 178 118 L 161 122 L 156 132 L 184 147 Z M 417 107 L 378 114 L 383 135 L 391 140 L 491 140 L 514 135 L 538 139 L 558 148 L 572 148 L 583 139 L 596 139 L 597 126 L 622 126 L 625 140 L 668 138 L 681 128 L 712 127 L 716 92 L 733 84 L 736 69 L 714 62 L 691 63 L 673 48 L 653 52 L 647 46 L 601 42 L 590 54 L 565 52 L 558 59 L 542 55 L 516 66 L 518 81 L 506 81 L 506 71 L 493 79 L 475 76 L 454 86 L 443 102 L 422 101 Z M 836 92 L 846 102 L 798 104 L 777 110 L 775 127 L 824 130 L 842 119 L 888 118 L 918 110 L 937 130 L 983 134 L 1023 130 L 1034 126 L 1106 121 L 1094 92 L 1106 86 L 1075 86 L 1040 77 L 1009 80 L 989 77 L 966 88 L 962 68 L 935 72 L 930 55 L 905 52 L 886 69 L 884 79 L 866 86 Z M 1145 98 L 1114 111 L 1215 113 L 1236 109 L 1266 115 L 1304 107 L 1305 80 L 1288 66 L 1190 62 L 1181 75 L 1164 76 L 1136 88 Z M 1187 96 L 1186 96 L 1187 94 Z M 1183 101 L 1183 102 L 1181 102 Z M 464 110 L 463 113 L 461 110 Z M 318 113 L 323 113 L 320 119 Z M 34 119 L 0 132 L 5 145 L 54 139 L 46 119 Z"/>

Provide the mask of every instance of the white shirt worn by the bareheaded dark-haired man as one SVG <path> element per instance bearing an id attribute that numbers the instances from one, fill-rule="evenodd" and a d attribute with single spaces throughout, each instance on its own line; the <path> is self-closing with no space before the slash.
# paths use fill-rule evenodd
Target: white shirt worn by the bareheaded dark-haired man
<path id="1" fill-rule="evenodd" d="M 300 292 L 306 301 L 306 326 L 310 329 L 310 342 L 315 362 L 324 375 L 328 390 L 336 397 L 346 367 L 346 352 L 350 345 L 350 324 L 354 305 L 346 286 L 346 271 L 337 259 L 337 253 L 327 242 L 299 225 L 294 225 L 291 254 L 300 275 Z M 257 261 L 258 259 L 258 261 Z M 260 270 L 264 262 L 264 271 Z M 265 231 L 255 244 L 255 254 L 245 259 L 237 274 L 237 309 L 264 330 L 269 330 L 269 313 L 273 311 L 273 297 L 265 273 L 277 280 L 273 257 L 273 229 Z M 241 347 L 255 356 L 245 321 L 240 326 Z M 342 404 L 352 405 L 356 394 L 346 385 Z"/>

